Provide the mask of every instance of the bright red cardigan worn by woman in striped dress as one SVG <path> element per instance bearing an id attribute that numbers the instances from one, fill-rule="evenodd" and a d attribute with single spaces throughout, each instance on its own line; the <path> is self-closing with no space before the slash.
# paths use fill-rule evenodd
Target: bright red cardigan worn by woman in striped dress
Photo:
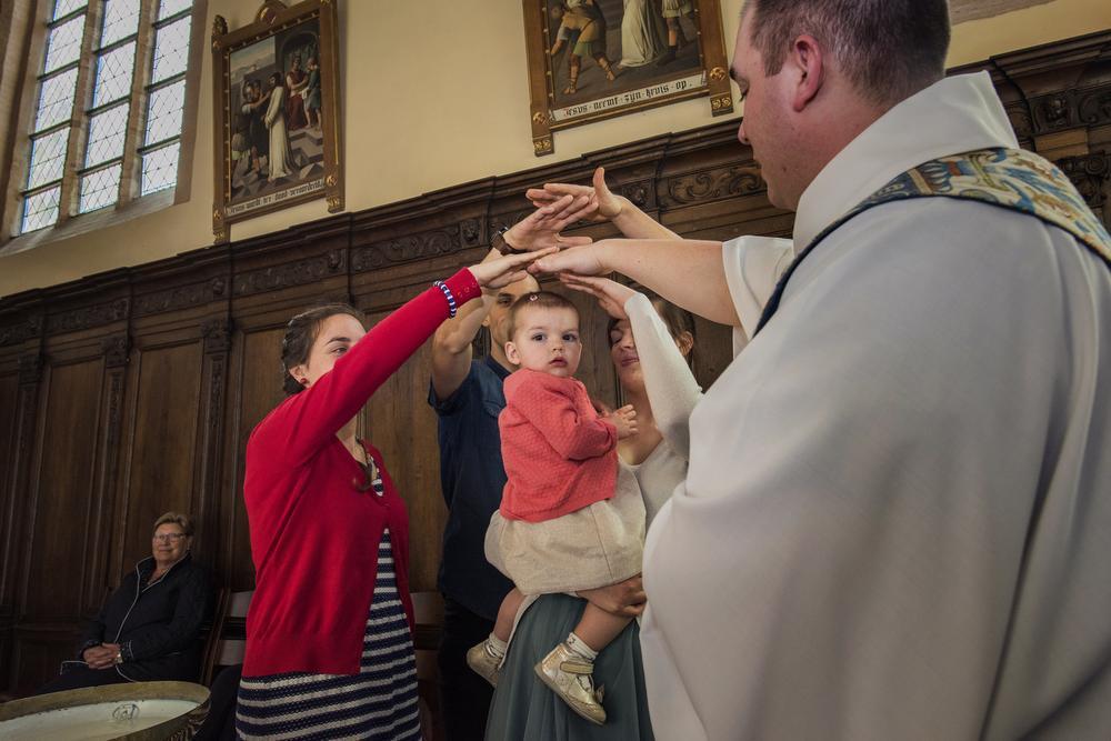
<path id="1" fill-rule="evenodd" d="M 480 294 L 469 270 L 446 282 L 460 307 Z M 412 628 L 404 503 L 381 453 L 370 445 L 386 493 L 354 488 L 362 470 L 336 433 L 447 318 L 443 293 L 428 289 L 376 324 L 312 388 L 283 401 L 251 432 L 243 495 L 256 589 L 247 615 L 244 677 L 359 673 L 384 528 Z"/>

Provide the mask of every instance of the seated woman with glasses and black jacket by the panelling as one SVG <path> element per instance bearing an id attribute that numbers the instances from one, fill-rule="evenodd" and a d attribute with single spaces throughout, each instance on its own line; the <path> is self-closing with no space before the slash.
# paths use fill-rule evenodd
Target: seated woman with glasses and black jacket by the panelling
<path id="1" fill-rule="evenodd" d="M 82 635 L 80 661 L 39 694 L 120 682 L 197 681 L 198 635 L 212 603 L 208 571 L 193 562 L 193 523 L 167 512 L 154 521 L 151 558 L 136 564 Z"/>

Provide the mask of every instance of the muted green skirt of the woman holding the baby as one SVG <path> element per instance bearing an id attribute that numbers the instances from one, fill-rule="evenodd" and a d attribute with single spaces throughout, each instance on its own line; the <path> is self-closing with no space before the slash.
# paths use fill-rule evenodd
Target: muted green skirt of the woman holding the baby
<path id="1" fill-rule="evenodd" d="M 544 594 L 521 618 L 490 704 L 487 741 L 654 740 L 635 621 L 594 662 L 594 687 L 605 688 L 605 725 L 579 718 L 537 678 L 533 667 L 567 639 L 585 604 L 568 594 Z"/>

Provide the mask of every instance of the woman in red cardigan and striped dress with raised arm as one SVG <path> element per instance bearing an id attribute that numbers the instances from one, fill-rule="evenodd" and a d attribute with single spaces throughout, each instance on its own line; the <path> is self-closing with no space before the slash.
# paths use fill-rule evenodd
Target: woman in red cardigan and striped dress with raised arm
<path id="1" fill-rule="evenodd" d="M 290 397 L 247 443 L 256 591 L 241 738 L 420 737 L 408 517 L 381 453 L 356 439 L 356 415 L 456 309 L 551 251 L 460 270 L 370 332 L 344 304 L 290 321 Z"/>

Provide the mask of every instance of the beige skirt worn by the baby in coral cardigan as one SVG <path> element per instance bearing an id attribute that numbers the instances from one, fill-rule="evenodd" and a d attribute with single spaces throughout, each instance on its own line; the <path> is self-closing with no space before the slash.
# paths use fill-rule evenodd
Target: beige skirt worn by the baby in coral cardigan
<path id="1" fill-rule="evenodd" d="M 644 555 L 644 500 L 640 489 L 618 477 L 612 499 L 544 522 L 508 520 L 494 512 L 487 529 L 486 555 L 524 594 L 597 589 L 641 571 Z"/>

